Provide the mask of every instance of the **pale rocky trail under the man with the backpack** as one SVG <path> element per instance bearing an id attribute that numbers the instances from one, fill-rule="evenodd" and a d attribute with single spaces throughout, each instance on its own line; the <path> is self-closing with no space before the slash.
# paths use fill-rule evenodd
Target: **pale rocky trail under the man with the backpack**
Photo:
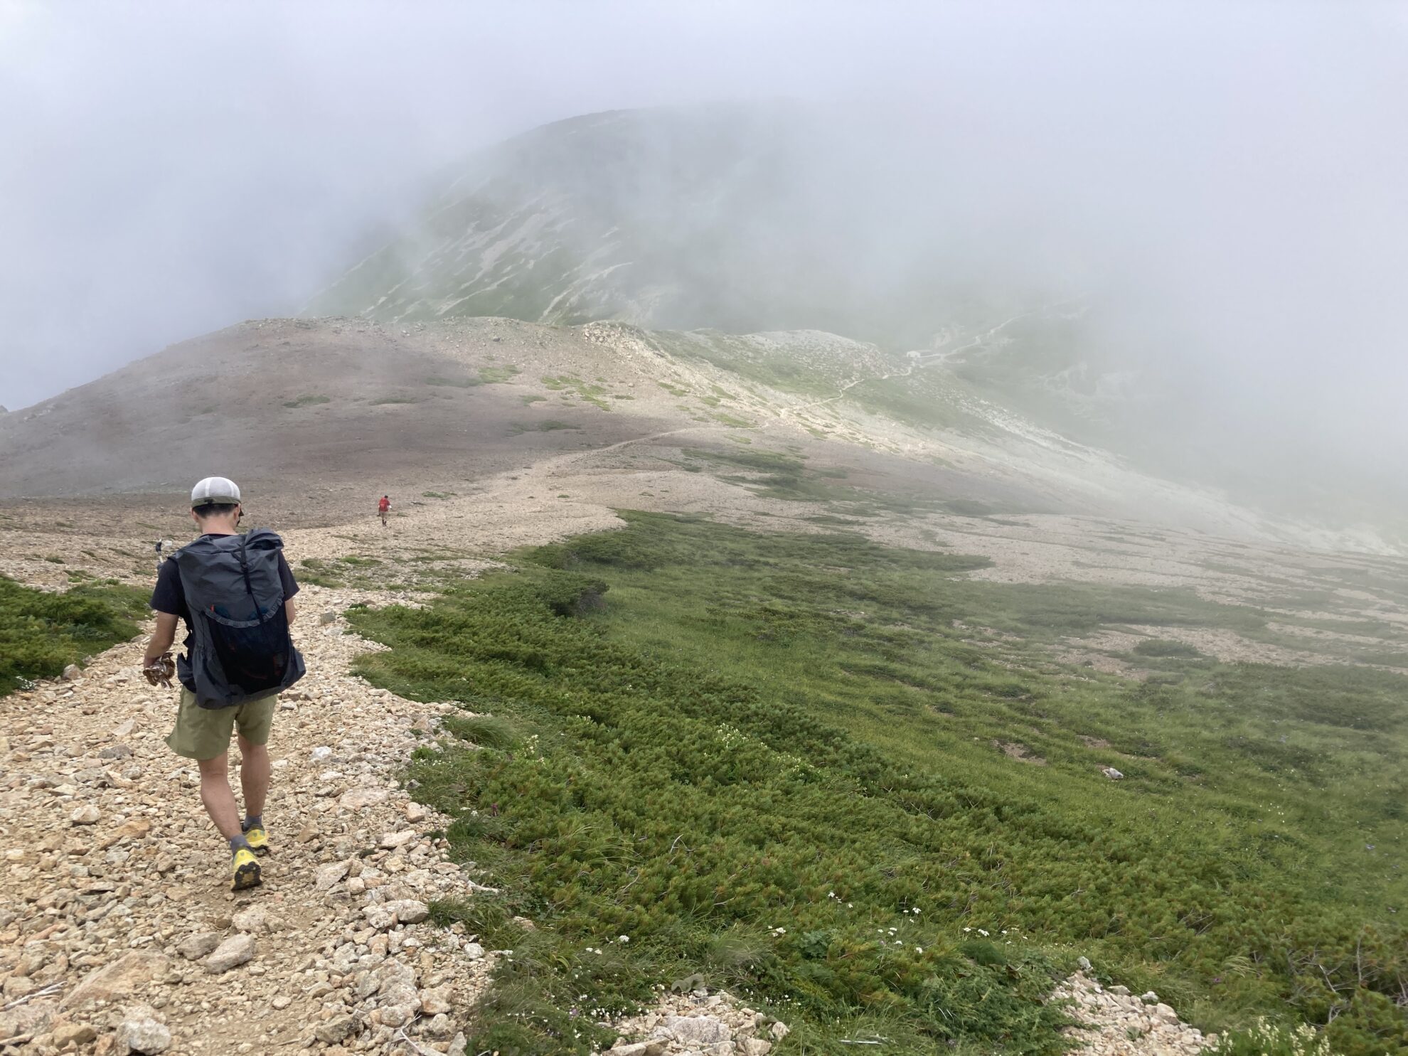
<path id="1" fill-rule="evenodd" d="M 273 850 L 238 895 L 196 766 L 163 742 L 176 691 L 141 679 L 141 642 L 4 701 L 0 1049 L 463 1050 L 494 953 L 428 919 L 474 883 L 427 835 L 448 819 L 396 781 L 445 708 L 351 677 L 377 646 L 339 618 L 294 629 L 310 674 L 275 718 Z"/>

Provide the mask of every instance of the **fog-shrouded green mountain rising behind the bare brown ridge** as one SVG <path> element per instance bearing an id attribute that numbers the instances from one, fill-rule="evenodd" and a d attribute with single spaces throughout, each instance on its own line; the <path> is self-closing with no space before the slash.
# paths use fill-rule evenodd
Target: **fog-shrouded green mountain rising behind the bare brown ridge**
<path id="1" fill-rule="evenodd" d="M 946 175 L 959 162 L 942 144 L 921 149 L 897 114 L 712 106 L 577 117 L 469 158 L 306 311 L 839 334 L 912 351 L 1145 474 L 1276 518 L 1408 538 L 1398 480 L 1377 455 L 1356 460 L 1309 439 L 1290 456 L 1280 427 L 1229 411 L 1228 393 L 1198 375 L 1205 356 L 1180 355 L 1167 325 L 1140 327 L 1118 282 L 1115 293 L 1081 284 L 1090 272 L 1070 232 L 1046 244 L 1019 217 L 983 213 L 981 190 Z M 763 380 L 796 383 L 786 356 L 767 359 Z M 943 413 L 919 406 L 931 387 L 872 403 L 931 424 Z"/>

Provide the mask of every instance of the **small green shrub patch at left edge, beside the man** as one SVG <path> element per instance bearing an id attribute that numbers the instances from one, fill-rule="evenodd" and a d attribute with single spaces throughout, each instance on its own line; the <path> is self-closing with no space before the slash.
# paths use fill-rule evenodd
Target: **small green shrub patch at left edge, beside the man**
<path id="1" fill-rule="evenodd" d="M 0 576 L 0 696 L 125 642 L 145 612 L 146 594 L 113 580 L 58 594 Z"/>

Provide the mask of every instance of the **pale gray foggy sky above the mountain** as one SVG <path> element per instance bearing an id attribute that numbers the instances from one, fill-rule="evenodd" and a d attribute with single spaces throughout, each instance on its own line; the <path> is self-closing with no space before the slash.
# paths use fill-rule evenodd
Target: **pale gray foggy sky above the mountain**
<path id="1" fill-rule="evenodd" d="M 1343 0 L 0 0 L 0 403 L 291 313 L 476 146 L 777 97 L 912 114 L 984 215 L 1094 232 L 1190 391 L 1408 439 L 1408 7 Z"/>

